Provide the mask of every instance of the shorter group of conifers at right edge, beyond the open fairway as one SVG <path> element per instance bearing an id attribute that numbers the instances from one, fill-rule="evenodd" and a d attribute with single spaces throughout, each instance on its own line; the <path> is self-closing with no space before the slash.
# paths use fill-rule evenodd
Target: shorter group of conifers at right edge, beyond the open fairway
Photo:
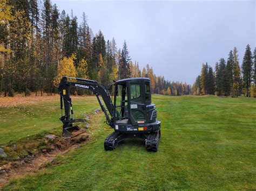
<path id="1" fill-rule="evenodd" d="M 227 61 L 221 58 L 215 63 L 215 71 L 207 62 L 203 63 L 192 92 L 194 95 L 256 97 L 256 48 L 252 53 L 250 45 L 246 46 L 241 67 L 236 47 L 228 54 Z"/>

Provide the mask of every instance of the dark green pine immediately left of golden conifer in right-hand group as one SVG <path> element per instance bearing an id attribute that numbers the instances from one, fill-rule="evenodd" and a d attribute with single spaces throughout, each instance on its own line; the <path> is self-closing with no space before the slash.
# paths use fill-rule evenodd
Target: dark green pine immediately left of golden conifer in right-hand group
<path id="1" fill-rule="evenodd" d="M 228 54 L 227 68 L 226 68 L 226 78 L 227 78 L 227 94 L 233 96 L 233 67 L 234 67 L 234 56 L 232 50 Z"/>

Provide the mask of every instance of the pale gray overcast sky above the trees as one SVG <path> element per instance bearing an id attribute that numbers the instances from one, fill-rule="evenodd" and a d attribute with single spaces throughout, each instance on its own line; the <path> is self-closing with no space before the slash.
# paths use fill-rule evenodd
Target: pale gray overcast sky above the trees
<path id="1" fill-rule="evenodd" d="M 124 39 L 142 69 L 193 83 L 203 62 L 214 67 L 234 46 L 240 65 L 247 44 L 256 45 L 256 1 L 64 1 L 52 0 L 82 20 L 85 12 L 94 33 Z"/>

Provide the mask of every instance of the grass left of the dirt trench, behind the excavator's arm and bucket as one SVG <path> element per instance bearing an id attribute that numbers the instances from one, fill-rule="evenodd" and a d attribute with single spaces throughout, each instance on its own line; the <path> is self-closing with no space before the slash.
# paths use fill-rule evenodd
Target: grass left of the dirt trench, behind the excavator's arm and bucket
<path id="1" fill-rule="evenodd" d="M 11 99 L 11 97 L 0 99 Z M 73 97 L 73 102 L 77 116 L 83 116 L 86 112 L 100 108 L 95 96 Z M 35 104 L 24 103 L 9 108 L 0 105 L 0 145 L 60 128 L 62 123 L 59 121 L 59 104 L 59 97 L 54 96 L 45 97 Z"/>

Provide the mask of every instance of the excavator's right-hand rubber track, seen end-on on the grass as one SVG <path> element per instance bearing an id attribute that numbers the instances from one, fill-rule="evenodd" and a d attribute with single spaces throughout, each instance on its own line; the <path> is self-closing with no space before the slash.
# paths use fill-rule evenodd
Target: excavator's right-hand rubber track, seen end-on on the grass
<path id="1" fill-rule="evenodd" d="M 149 137 L 147 137 L 146 143 L 145 143 L 147 151 L 157 152 L 158 146 L 160 143 L 160 138 L 161 138 L 160 130 L 150 133 L 150 135 L 149 135 Z"/>

